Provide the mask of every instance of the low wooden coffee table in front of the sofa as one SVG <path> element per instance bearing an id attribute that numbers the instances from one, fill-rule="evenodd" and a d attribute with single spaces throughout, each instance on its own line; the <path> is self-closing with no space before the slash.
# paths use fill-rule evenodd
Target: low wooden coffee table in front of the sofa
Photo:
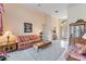
<path id="1" fill-rule="evenodd" d="M 40 41 L 40 42 L 33 44 L 33 48 L 38 51 L 39 49 L 46 48 L 49 44 L 51 44 L 51 42 Z"/>

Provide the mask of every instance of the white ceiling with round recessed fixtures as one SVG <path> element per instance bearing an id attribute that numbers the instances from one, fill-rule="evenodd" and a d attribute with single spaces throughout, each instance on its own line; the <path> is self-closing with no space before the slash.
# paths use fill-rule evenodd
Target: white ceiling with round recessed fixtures
<path id="1" fill-rule="evenodd" d="M 67 9 L 76 5 L 76 3 L 28 3 L 23 5 L 26 8 L 30 7 L 36 11 L 40 11 L 59 18 L 66 18 Z"/>

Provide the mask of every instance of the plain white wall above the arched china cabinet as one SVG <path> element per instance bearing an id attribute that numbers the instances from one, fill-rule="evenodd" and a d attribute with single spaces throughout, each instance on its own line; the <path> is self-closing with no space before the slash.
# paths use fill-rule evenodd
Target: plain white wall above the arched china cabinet
<path id="1" fill-rule="evenodd" d="M 86 21 L 86 4 L 79 3 L 72 8 L 69 8 L 67 17 L 71 23 L 76 22 L 78 18 Z"/>

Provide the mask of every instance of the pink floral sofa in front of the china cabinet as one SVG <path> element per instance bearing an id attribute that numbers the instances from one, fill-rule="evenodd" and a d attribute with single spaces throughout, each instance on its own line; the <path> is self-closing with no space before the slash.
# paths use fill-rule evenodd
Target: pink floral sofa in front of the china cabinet
<path id="1" fill-rule="evenodd" d="M 85 55 L 83 55 L 83 53 L 85 53 Z M 67 60 L 69 56 L 75 59 L 70 61 L 86 61 L 86 44 L 75 43 L 75 46 L 70 46 L 65 53 L 65 59 Z"/>

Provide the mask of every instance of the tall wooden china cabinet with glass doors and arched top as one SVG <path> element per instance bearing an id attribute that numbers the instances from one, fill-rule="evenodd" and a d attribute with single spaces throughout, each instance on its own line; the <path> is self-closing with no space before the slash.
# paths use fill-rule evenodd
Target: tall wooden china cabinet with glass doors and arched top
<path id="1" fill-rule="evenodd" d="M 86 33 L 86 22 L 78 20 L 76 23 L 70 24 L 70 44 L 71 43 L 86 43 L 82 36 Z"/>

